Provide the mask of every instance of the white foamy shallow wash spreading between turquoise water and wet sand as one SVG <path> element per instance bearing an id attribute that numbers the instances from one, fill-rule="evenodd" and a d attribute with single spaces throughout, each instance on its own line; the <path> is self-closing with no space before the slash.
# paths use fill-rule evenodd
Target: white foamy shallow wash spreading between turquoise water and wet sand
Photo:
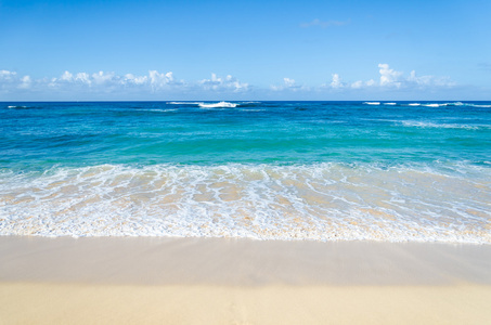
<path id="1" fill-rule="evenodd" d="M 0 173 L 0 234 L 491 243 L 491 169 L 314 164 Z"/>

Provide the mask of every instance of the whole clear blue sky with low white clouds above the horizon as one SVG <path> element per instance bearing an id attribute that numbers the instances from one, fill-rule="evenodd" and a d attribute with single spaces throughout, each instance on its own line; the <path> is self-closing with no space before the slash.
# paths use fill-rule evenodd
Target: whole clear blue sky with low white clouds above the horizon
<path id="1" fill-rule="evenodd" d="M 490 15 L 489 0 L 0 0 L 0 101 L 486 101 Z"/>

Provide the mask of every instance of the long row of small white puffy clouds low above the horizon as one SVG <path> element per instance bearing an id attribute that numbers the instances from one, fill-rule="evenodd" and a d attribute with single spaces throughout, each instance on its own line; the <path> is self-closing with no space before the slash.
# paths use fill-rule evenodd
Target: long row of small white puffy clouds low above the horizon
<path id="1" fill-rule="evenodd" d="M 341 75 L 334 73 L 327 82 L 320 86 L 299 84 L 295 79 L 285 77 L 281 84 L 270 86 L 269 90 L 286 95 L 295 94 L 295 98 L 314 93 L 335 92 L 336 94 L 353 94 L 366 91 L 384 92 L 393 90 L 437 90 L 450 89 L 456 83 L 449 77 L 436 77 L 430 75 L 419 76 L 412 70 L 409 75 L 396 70 L 387 63 L 378 64 L 378 76 L 369 80 L 346 81 Z M 223 95 L 250 95 L 267 94 L 268 89 L 253 87 L 242 82 L 237 78 L 228 75 L 225 77 L 211 74 L 210 78 L 195 81 L 179 80 L 172 72 L 160 73 L 148 70 L 146 75 L 98 72 L 98 73 L 70 73 L 64 72 L 55 78 L 36 79 L 31 76 L 18 75 L 16 72 L 0 70 L 0 99 L 16 98 L 27 99 L 28 94 L 37 99 L 42 95 L 46 99 L 104 99 L 104 98 L 153 98 L 159 94 L 173 94 L 176 96 L 193 95 L 199 98 L 212 98 L 214 94 Z M 155 98 L 155 96 L 154 96 Z"/>

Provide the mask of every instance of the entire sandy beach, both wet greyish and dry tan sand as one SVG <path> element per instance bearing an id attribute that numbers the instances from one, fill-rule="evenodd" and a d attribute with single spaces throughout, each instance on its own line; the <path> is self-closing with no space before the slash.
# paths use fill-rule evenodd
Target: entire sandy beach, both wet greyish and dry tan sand
<path id="1" fill-rule="evenodd" d="M 490 323 L 490 245 L 0 237 L 0 324 Z"/>

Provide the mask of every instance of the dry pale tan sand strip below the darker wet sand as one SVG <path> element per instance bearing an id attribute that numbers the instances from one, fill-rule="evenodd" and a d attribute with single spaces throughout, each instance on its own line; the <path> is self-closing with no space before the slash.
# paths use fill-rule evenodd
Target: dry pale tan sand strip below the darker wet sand
<path id="1" fill-rule="evenodd" d="M 490 324 L 489 286 L 3 283 L 0 324 Z"/>

